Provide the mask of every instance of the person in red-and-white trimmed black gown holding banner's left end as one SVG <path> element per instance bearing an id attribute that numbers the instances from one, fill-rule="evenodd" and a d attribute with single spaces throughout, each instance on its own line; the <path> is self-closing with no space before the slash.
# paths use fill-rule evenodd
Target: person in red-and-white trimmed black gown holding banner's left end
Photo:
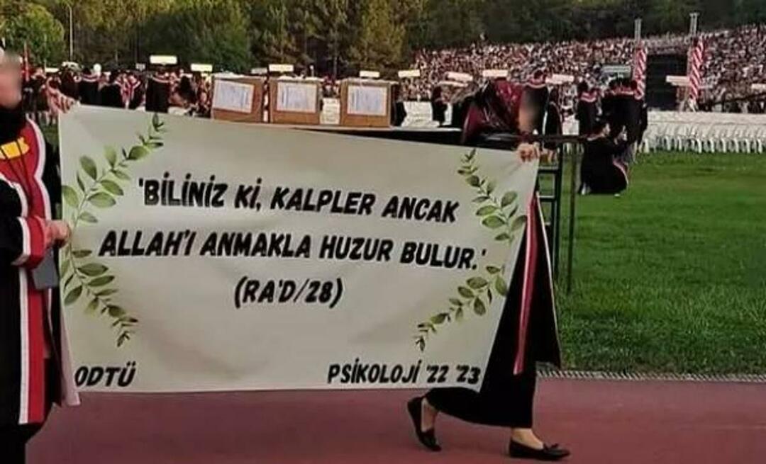
<path id="1" fill-rule="evenodd" d="M 49 106 L 71 100 L 48 90 Z M 25 462 L 26 443 L 53 402 L 77 404 L 55 288 L 54 248 L 68 240 L 53 219 L 57 156 L 21 107 L 18 60 L 0 49 L 0 450 Z"/>

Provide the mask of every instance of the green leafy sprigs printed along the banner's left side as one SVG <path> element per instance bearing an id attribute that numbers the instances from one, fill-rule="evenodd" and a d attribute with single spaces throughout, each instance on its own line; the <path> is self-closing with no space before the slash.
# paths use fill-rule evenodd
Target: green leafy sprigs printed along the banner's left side
<path id="1" fill-rule="evenodd" d="M 130 181 L 130 164 L 162 148 L 162 134 L 166 132 L 164 126 L 165 123 L 155 114 L 146 135 L 138 134 L 139 143 L 129 149 L 121 149 L 119 153 L 107 146 L 103 152 L 106 162 L 106 165 L 101 163 L 103 167 L 89 156 L 80 157 L 77 185 L 61 187 L 64 201 L 72 211 L 67 222 L 73 234 L 78 227 L 98 223 L 93 213 L 95 210 L 91 207 L 106 209 L 117 204 L 117 199 L 125 194 L 120 183 Z M 107 315 L 113 319 L 116 345 L 122 346 L 135 334 L 139 320 L 115 302 L 118 290 L 110 284 L 116 277 L 110 274 L 109 267 L 93 259 L 93 250 L 75 250 L 70 243 L 64 248 L 63 256 L 61 278 L 64 279 L 64 305 L 74 305 L 80 298 L 90 299 L 85 313 Z"/>

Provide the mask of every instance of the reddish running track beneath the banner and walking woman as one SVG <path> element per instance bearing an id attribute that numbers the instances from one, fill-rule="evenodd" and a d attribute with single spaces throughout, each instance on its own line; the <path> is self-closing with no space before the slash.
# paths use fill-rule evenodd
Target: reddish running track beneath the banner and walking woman
<path id="1" fill-rule="evenodd" d="M 443 417 L 424 452 L 411 392 L 95 395 L 57 411 L 31 464 L 509 462 L 506 431 Z M 766 462 L 766 385 L 542 381 L 536 429 L 600 464 Z"/>

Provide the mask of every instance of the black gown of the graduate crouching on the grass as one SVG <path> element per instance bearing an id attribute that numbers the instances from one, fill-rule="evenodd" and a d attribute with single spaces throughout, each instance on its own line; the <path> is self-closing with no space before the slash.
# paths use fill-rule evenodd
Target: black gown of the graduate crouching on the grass
<path id="1" fill-rule="evenodd" d="M 627 188 L 627 170 L 615 160 L 624 149 L 624 144 L 614 143 L 606 137 L 588 140 L 580 166 L 580 178 L 591 193 L 617 194 Z"/>

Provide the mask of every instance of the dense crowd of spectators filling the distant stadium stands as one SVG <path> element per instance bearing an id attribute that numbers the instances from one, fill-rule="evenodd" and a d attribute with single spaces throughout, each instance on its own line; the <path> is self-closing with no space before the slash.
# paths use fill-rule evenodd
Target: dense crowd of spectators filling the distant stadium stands
<path id="1" fill-rule="evenodd" d="M 735 100 L 753 93 L 753 83 L 766 82 L 766 25 L 751 25 L 702 34 L 705 54 L 701 103 Z M 647 38 L 648 53 L 686 54 L 689 37 L 666 35 Z M 481 79 L 482 70 L 507 69 L 512 80 L 525 80 L 534 70 L 571 74 L 590 83 L 603 82 L 604 65 L 632 65 L 636 43 L 632 38 L 601 41 L 539 42 L 532 44 L 477 43 L 463 48 L 420 51 L 413 66 L 421 78 L 411 80 L 405 93 L 411 100 L 427 100 L 449 71 Z M 703 105 L 704 106 L 704 105 Z"/>

